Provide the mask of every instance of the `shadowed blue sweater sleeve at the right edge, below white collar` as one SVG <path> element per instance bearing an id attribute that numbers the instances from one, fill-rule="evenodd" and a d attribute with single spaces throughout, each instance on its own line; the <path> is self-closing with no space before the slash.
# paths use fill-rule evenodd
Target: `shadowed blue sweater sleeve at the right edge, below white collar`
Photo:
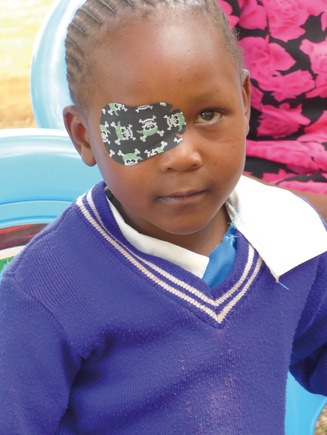
<path id="1" fill-rule="evenodd" d="M 321 256 L 294 337 L 290 371 L 307 390 L 327 396 L 327 255 Z"/>

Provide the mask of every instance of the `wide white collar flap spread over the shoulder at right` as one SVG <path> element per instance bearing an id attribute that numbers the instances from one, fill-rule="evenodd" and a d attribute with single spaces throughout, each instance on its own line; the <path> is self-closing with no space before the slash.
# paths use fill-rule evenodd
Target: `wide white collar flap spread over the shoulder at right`
<path id="1" fill-rule="evenodd" d="M 287 190 L 242 176 L 226 206 L 276 280 L 327 251 L 327 232 L 319 215 Z"/>

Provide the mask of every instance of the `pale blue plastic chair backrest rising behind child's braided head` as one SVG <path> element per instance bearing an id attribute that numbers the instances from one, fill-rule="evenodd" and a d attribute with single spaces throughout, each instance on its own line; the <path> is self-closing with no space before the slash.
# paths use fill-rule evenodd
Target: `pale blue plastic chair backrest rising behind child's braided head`
<path id="1" fill-rule="evenodd" d="M 62 110 L 71 104 L 65 38 L 76 9 L 84 1 L 56 0 L 38 33 L 31 65 L 31 98 L 38 127 L 64 129 Z"/>

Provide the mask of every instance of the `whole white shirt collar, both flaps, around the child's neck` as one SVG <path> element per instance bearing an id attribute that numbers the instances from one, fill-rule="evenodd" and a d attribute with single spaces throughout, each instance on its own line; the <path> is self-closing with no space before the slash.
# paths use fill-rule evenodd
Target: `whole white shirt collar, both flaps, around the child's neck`
<path id="1" fill-rule="evenodd" d="M 175 263 L 202 278 L 209 257 L 137 232 L 109 201 L 124 237 L 137 249 Z M 319 215 L 291 192 L 242 176 L 226 203 L 236 228 L 279 277 L 327 251 L 327 233 Z"/>

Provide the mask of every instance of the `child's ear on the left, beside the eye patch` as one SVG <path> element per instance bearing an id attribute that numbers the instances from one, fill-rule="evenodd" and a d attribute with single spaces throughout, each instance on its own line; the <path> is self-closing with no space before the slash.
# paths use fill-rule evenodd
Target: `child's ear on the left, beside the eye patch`
<path id="1" fill-rule="evenodd" d="M 83 162 L 88 166 L 94 166 L 96 161 L 93 155 L 90 135 L 84 126 L 82 115 L 76 106 L 66 106 L 63 116 L 66 130 Z"/>

